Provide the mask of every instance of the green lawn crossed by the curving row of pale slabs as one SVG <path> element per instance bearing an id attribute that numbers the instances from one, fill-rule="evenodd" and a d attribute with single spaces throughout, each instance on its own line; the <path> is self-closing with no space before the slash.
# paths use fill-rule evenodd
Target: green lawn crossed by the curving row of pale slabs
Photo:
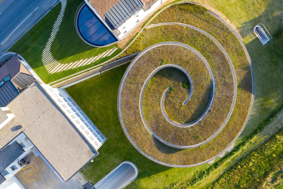
<path id="1" fill-rule="evenodd" d="M 42 52 L 51 36 L 53 25 L 61 11 L 61 3 L 58 3 L 46 16 L 44 16 L 35 26 L 33 26 L 20 40 L 15 43 L 9 51 L 16 52 L 23 56 L 39 77 L 50 83 L 63 77 L 75 74 L 79 71 L 100 64 L 117 55 L 121 49 L 117 44 L 108 47 L 93 47 L 86 44 L 76 33 L 74 18 L 76 10 L 79 8 L 81 0 L 68 0 L 64 16 L 59 27 L 59 31 L 51 45 L 52 56 L 61 63 L 70 63 L 85 58 L 97 56 L 107 49 L 117 47 L 118 49 L 111 55 L 91 63 L 89 65 L 60 71 L 49 74 L 42 63 Z"/>

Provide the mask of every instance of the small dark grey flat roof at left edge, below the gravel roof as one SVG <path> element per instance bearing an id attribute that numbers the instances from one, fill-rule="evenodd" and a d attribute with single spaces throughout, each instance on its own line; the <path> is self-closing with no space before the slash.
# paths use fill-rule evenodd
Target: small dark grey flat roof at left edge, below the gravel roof
<path id="1" fill-rule="evenodd" d="M 4 171 L 13 163 L 23 152 L 23 148 L 15 141 L 3 150 L 0 150 L 0 172 Z"/>

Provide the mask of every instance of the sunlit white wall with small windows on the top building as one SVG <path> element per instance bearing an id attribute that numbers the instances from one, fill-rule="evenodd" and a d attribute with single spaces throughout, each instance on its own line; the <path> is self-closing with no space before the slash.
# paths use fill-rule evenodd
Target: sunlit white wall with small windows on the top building
<path id="1" fill-rule="evenodd" d="M 140 8 L 135 14 L 133 14 L 121 26 L 117 28 L 121 32 L 121 34 L 118 35 L 118 38 L 121 39 L 124 35 L 128 33 L 128 31 L 130 31 L 133 27 L 139 24 L 140 21 L 143 20 L 143 18 L 145 18 L 149 13 L 153 12 L 156 9 L 156 7 L 158 7 L 161 3 L 164 2 L 165 1 L 162 2 L 162 0 L 158 0 L 153 5 L 151 5 L 150 9 L 147 9 L 146 11 Z M 139 20 L 139 22 L 137 22 L 137 20 Z M 127 32 L 124 33 L 125 31 Z"/>

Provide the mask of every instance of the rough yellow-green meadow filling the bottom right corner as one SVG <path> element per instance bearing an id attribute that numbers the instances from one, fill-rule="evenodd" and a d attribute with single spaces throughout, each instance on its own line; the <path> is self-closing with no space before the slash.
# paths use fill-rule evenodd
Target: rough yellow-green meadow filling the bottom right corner
<path id="1" fill-rule="evenodd" d="M 207 189 L 261 188 L 268 182 L 270 185 L 275 185 L 270 180 L 272 177 L 277 180 L 278 176 L 282 175 L 282 152 L 283 129 L 280 129 L 278 133 L 236 163 Z"/>

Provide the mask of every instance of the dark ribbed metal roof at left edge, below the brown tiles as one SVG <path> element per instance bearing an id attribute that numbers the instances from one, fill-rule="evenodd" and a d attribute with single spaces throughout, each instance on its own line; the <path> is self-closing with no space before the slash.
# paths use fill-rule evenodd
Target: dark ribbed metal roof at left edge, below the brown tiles
<path id="1" fill-rule="evenodd" d="M 12 101 L 19 94 L 16 87 L 11 80 L 8 80 L 0 88 L 0 107 L 5 107 L 10 101 Z"/>

